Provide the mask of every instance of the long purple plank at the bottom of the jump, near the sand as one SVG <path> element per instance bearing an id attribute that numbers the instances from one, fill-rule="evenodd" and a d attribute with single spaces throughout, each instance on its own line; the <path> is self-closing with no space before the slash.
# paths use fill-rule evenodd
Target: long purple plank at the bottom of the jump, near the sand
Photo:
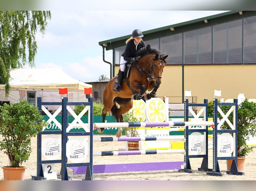
<path id="1" fill-rule="evenodd" d="M 178 170 L 184 161 L 176 162 L 147 162 L 131 164 L 100 164 L 93 165 L 93 173 L 112 173 L 112 172 L 135 172 L 153 170 Z M 74 174 L 86 174 L 87 166 L 69 167 L 74 169 Z"/>

